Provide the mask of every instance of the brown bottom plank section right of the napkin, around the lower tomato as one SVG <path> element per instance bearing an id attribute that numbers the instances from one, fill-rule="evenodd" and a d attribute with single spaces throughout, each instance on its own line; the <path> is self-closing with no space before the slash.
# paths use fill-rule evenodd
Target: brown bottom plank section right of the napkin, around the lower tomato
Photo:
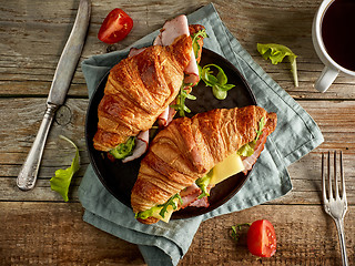
<path id="1" fill-rule="evenodd" d="M 277 252 L 274 257 L 257 259 L 247 252 L 245 235 L 235 244 L 230 228 L 261 218 L 273 223 Z M 349 262 L 355 259 L 353 219 L 351 214 L 345 219 Z M 201 265 L 341 265 L 342 260 L 335 225 L 321 206 L 262 205 L 204 222 L 181 265 L 195 262 Z"/>

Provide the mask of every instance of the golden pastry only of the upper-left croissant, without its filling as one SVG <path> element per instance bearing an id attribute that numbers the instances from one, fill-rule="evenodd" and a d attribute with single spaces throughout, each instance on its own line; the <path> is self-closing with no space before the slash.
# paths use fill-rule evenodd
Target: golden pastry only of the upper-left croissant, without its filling
<path id="1" fill-rule="evenodd" d="M 98 108 L 94 149 L 110 151 L 149 130 L 176 98 L 191 53 L 192 40 L 184 34 L 171 45 L 149 47 L 113 66 Z"/>

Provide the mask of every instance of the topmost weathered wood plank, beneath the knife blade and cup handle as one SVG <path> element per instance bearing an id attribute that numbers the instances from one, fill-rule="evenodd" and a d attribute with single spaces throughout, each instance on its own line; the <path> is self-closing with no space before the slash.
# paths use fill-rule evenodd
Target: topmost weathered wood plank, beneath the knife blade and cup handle
<path id="1" fill-rule="evenodd" d="M 297 99 L 305 96 L 355 99 L 355 81 L 343 74 L 325 94 L 313 89 L 323 69 L 311 39 L 311 24 L 320 2 L 302 1 L 297 4 L 295 1 L 285 0 L 255 4 L 253 0 L 232 2 L 219 0 L 214 3 L 222 20 L 242 45 L 290 94 Z M 115 44 L 115 48 L 123 49 L 159 29 L 165 20 L 175 14 L 190 13 L 206 3 L 207 1 L 172 0 L 150 4 L 143 0 L 121 2 L 120 8 L 133 18 L 134 28 L 129 38 Z M 300 4 L 307 7 L 300 12 Z M 39 6 L 42 8 L 36 8 Z M 48 93 L 57 62 L 74 20 L 77 6 L 78 1 L 49 1 L 43 4 L 39 0 L 26 1 L 26 4 L 8 2 L 4 4 L 0 10 L 0 28 L 4 29 L 0 31 L 0 95 L 45 95 Z M 106 44 L 98 40 L 97 32 L 106 13 L 115 8 L 116 3 L 94 1 L 92 6 L 88 40 L 80 61 L 105 52 Z M 272 65 L 264 61 L 255 49 L 257 42 L 283 43 L 298 54 L 300 88 L 293 85 L 288 63 Z M 9 82 L 11 82 L 10 86 Z M 23 85 L 24 82 L 26 85 Z M 80 66 L 73 78 L 69 95 L 87 96 Z"/>

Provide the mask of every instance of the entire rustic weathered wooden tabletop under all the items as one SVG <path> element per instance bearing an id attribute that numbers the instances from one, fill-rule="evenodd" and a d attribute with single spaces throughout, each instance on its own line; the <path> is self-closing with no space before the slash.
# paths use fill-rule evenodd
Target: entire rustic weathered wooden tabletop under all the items
<path id="1" fill-rule="evenodd" d="M 1 265 L 143 265 L 133 244 L 82 221 L 78 186 L 89 164 L 84 142 L 88 106 L 85 81 L 77 69 L 65 105 L 57 114 L 34 190 L 21 192 L 16 177 L 44 112 L 57 62 L 71 30 L 79 1 L 1 1 L 0 8 L 0 264 Z M 97 38 L 104 17 L 122 8 L 134 20 L 122 49 L 178 13 L 190 13 L 209 1 L 98 1 L 82 58 L 106 52 Z M 325 142 L 288 167 L 294 188 L 286 196 L 240 213 L 204 222 L 180 265 L 341 265 L 335 225 L 321 205 L 321 153 L 342 150 L 349 213 L 345 219 L 349 262 L 355 260 L 355 79 L 341 74 L 324 94 L 314 90 L 323 64 L 313 49 L 311 25 L 321 0 L 216 0 L 215 7 L 253 59 L 317 122 Z M 272 65 L 256 51 L 257 42 L 290 47 L 296 54 L 300 86 L 288 63 Z M 68 167 L 72 147 L 80 147 L 82 167 L 73 178 L 70 202 L 50 190 L 54 171 Z M 266 218 L 277 234 L 272 258 L 252 256 L 245 239 L 234 243 L 232 225 Z"/>

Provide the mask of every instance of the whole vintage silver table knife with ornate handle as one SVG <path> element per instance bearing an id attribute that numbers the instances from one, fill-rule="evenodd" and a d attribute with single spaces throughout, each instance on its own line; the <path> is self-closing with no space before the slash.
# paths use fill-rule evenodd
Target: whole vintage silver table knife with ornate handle
<path id="1" fill-rule="evenodd" d="M 49 129 L 52 124 L 55 111 L 65 101 L 67 92 L 85 42 L 90 13 L 90 0 L 80 0 L 75 22 L 57 65 L 52 85 L 47 99 L 44 117 L 17 178 L 17 185 L 22 191 L 33 188 L 36 184 Z"/>

